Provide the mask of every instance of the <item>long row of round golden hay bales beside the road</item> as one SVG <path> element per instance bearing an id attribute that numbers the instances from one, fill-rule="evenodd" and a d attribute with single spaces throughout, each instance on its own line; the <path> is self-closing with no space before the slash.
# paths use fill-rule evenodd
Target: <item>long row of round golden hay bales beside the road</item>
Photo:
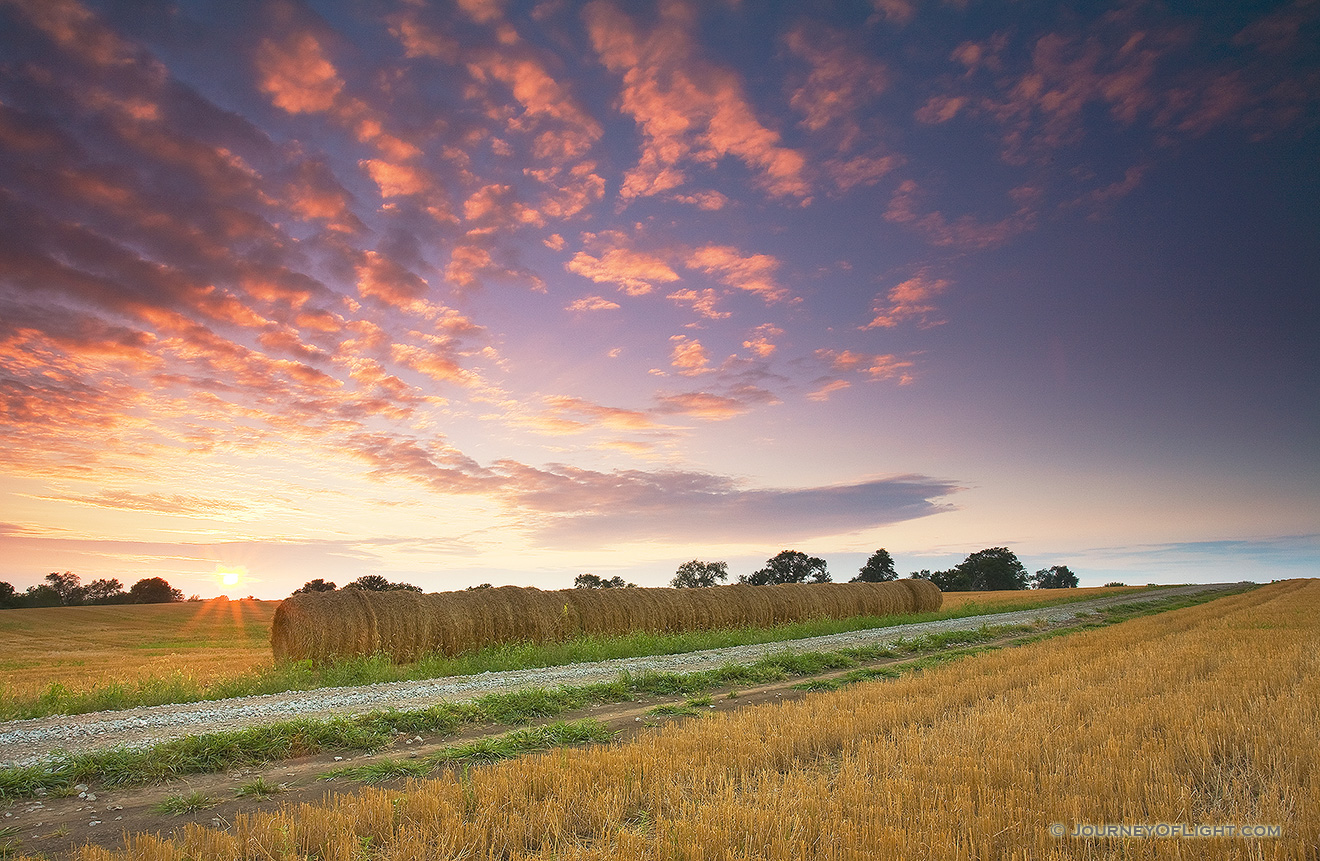
<path id="1" fill-rule="evenodd" d="M 277 662 L 380 654 L 408 663 L 428 652 L 458 655 L 492 643 L 540 643 L 579 634 L 929 613 L 942 600 L 940 589 L 925 580 L 558 592 L 500 586 L 433 594 L 342 589 L 285 598 L 275 611 L 271 647 Z"/>

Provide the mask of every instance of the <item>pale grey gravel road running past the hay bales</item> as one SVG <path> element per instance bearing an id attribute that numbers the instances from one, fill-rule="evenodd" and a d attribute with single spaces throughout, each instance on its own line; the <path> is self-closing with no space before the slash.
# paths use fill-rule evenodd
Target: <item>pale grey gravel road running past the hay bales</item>
<path id="1" fill-rule="evenodd" d="M 830 651 L 863 644 L 884 644 L 909 639 L 921 634 L 978 629 L 982 625 L 1020 625 L 1036 619 L 1063 622 L 1115 603 L 1148 597 L 1188 596 L 1236 588 L 1238 584 L 1209 584 L 1173 586 L 1155 594 L 1119 594 L 1078 601 L 1056 607 L 995 613 L 961 619 L 917 622 L 876 627 L 843 634 L 826 634 L 805 639 L 764 643 L 758 646 L 731 646 L 681 655 L 647 658 L 616 658 L 595 663 L 483 672 L 475 676 L 449 676 L 421 681 L 389 681 L 345 688 L 292 691 L 261 696 L 187 703 L 181 705 L 150 705 L 119 712 L 41 717 L 26 721 L 0 722 L 0 766 L 21 766 L 42 762 L 55 750 L 73 753 L 127 745 L 149 746 L 170 738 L 195 736 L 224 729 L 259 726 L 300 717 L 325 718 L 337 714 L 363 714 L 395 708 L 399 710 L 424 709 L 436 703 L 471 700 L 486 693 L 516 691 L 528 687 L 577 685 L 616 679 L 620 672 L 694 672 L 725 664 L 751 663 L 772 652 Z"/>

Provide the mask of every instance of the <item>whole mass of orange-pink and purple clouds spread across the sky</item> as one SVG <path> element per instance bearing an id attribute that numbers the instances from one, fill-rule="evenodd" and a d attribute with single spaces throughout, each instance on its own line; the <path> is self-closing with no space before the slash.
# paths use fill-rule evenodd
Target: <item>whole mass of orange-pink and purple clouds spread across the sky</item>
<path id="1" fill-rule="evenodd" d="M 1320 73 L 1296 59 L 1315 53 L 1305 0 L 1218 42 L 1143 3 L 1057 32 L 960 37 L 902 111 L 911 73 L 867 34 L 902 40 L 920 12 L 874 7 L 853 29 L 785 15 L 750 70 L 722 59 L 704 7 L 680 0 L 645 15 L 614 0 L 400 0 L 356 20 L 367 36 L 294 0 L 174 29 L 131 4 L 12 0 L 0 9 L 4 469 L 114 482 L 181 450 L 313 446 L 383 481 L 536 515 L 557 540 L 713 523 L 837 532 L 939 510 L 950 482 L 770 490 L 681 469 L 479 464 L 436 429 L 494 404 L 510 427 L 603 429 L 603 446 L 647 454 L 678 423 L 797 391 L 776 364 L 785 342 L 813 400 L 917 379 L 912 355 L 797 337 L 803 271 L 770 234 L 694 239 L 667 230 L 677 215 L 634 213 L 715 224 L 739 207 L 772 218 L 878 198 L 874 230 L 906 231 L 928 255 L 883 283 L 858 279 L 866 338 L 940 325 L 957 255 L 1139 186 L 1143 164 L 1067 164 L 1093 108 L 1158 147 L 1315 118 Z M 956 124 L 993 136 L 1031 178 L 986 206 L 950 201 L 904 141 Z M 639 370 L 653 388 L 624 407 L 521 391 L 503 333 L 469 309 L 491 285 L 553 293 L 566 317 L 636 312 L 636 337 L 668 366 Z M 655 297 L 685 314 L 682 330 L 651 330 Z M 79 499 L 224 511 L 174 489 Z"/>

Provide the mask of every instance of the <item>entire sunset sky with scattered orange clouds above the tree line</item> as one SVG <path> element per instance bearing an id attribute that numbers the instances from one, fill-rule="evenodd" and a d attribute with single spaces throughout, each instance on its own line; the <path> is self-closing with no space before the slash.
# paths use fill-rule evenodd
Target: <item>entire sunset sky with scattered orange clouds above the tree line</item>
<path id="1" fill-rule="evenodd" d="M 1317 0 L 0 0 L 0 580 L 1317 576 Z"/>

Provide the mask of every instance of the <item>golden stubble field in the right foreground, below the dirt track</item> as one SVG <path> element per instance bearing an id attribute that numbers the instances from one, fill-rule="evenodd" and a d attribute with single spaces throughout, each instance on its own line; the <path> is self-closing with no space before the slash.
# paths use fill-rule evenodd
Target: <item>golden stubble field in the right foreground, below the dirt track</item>
<path id="1" fill-rule="evenodd" d="M 77 857 L 1315 858 L 1317 642 L 1279 582 Z M 1195 836 L 1114 832 L 1160 825 Z"/>

